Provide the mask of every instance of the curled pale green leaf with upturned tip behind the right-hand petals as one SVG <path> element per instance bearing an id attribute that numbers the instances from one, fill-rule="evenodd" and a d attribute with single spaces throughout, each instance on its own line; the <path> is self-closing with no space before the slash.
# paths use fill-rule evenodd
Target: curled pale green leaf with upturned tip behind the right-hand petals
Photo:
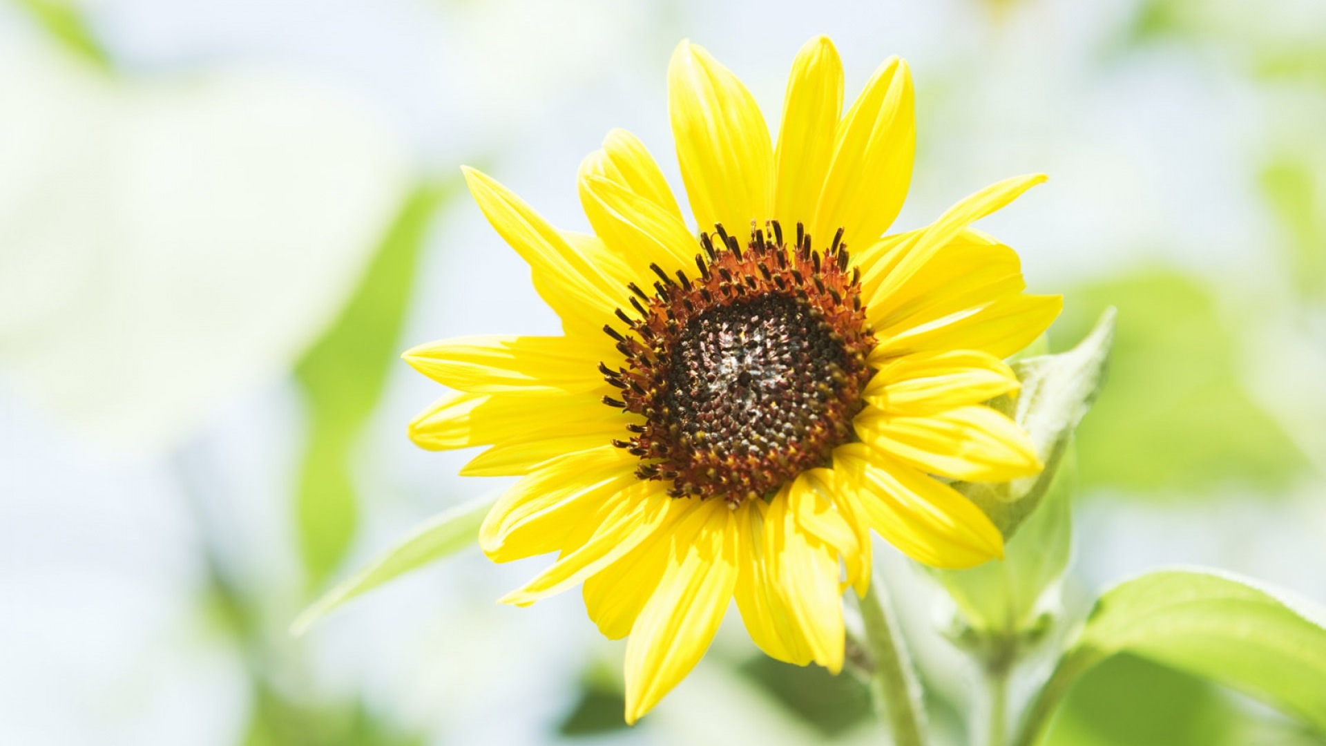
<path id="1" fill-rule="evenodd" d="M 1005 483 L 957 483 L 1005 538 L 1010 538 L 1045 496 L 1074 430 L 1105 384 L 1114 340 L 1114 309 L 1101 313 L 1095 328 L 1067 352 L 1022 358 L 1013 370 L 1022 382 L 1017 400 L 994 402 L 1026 430 L 1045 470 Z"/>

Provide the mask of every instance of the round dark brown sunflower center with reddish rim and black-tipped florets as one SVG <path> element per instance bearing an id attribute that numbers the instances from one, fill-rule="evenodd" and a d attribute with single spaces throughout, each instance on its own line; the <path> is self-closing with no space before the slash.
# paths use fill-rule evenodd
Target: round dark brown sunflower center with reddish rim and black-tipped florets
<path id="1" fill-rule="evenodd" d="M 854 437 L 874 337 L 842 232 L 821 255 L 800 226 L 792 251 L 769 227 L 745 250 L 721 227 L 720 248 L 701 236 L 697 276 L 654 267 L 652 296 L 631 287 L 638 316 L 618 312 L 634 335 L 606 329 L 627 366 L 599 366 L 622 389 L 605 402 L 646 418 L 614 443 L 674 496 L 768 498 Z"/>

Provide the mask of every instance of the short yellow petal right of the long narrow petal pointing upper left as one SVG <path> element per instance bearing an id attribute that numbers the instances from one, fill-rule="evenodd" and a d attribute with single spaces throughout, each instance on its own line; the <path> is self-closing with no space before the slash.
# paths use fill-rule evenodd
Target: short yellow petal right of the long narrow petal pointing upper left
<path id="1" fill-rule="evenodd" d="M 699 242 L 682 219 L 618 182 L 594 174 L 581 174 L 581 204 L 594 232 L 621 256 L 634 264 L 633 281 L 650 287 L 658 263 L 668 273 L 695 271 Z M 623 283 L 625 287 L 625 283 Z"/>

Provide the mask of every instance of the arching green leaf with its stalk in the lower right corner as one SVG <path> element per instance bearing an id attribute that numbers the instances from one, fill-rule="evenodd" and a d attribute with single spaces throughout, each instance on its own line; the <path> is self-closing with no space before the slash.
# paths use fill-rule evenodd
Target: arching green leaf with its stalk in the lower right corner
<path id="1" fill-rule="evenodd" d="M 1167 569 L 1101 596 L 1017 743 L 1034 743 L 1067 689 L 1118 653 L 1224 684 L 1326 731 L 1326 609 L 1232 575 Z"/>

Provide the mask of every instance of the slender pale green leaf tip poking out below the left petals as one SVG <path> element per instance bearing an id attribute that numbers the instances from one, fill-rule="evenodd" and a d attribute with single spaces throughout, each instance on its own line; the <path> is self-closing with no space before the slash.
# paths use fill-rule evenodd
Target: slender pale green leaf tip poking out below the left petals
<path id="1" fill-rule="evenodd" d="M 410 571 L 418 569 L 434 560 L 452 555 L 479 540 L 479 527 L 488 508 L 497 502 L 493 496 L 479 498 L 439 514 L 415 528 L 408 536 L 362 569 L 337 583 L 309 608 L 304 609 L 293 624 L 290 634 L 304 634 L 318 621 L 350 599 L 394 580 Z"/>

